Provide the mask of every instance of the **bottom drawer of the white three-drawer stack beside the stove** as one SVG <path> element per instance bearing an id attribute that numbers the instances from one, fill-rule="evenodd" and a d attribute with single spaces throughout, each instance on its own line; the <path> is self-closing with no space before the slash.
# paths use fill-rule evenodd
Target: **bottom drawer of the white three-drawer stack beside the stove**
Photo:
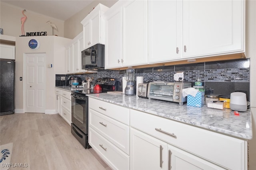
<path id="1" fill-rule="evenodd" d="M 89 144 L 114 170 L 129 170 L 129 156 L 89 127 Z"/>

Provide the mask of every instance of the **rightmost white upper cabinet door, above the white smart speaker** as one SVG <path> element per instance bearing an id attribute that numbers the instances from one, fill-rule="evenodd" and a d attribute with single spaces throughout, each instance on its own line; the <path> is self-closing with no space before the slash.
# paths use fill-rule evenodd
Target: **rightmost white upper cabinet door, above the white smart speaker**
<path id="1" fill-rule="evenodd" d="M 244 0 L 184 0 L 183 57 L 244 51 Z"/>

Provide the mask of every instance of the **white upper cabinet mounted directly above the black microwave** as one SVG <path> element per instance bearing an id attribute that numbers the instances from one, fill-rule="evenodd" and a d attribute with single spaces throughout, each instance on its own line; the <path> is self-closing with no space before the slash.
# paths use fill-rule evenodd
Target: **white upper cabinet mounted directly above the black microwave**
<path id="1" fill-rule="evenodd" d="M 105 44 L 105 21 L 102 14 L 109 8 L 98 4 L 91 12 L 81 21 L 84 32 L 84 49 L 97 43 Z"/>

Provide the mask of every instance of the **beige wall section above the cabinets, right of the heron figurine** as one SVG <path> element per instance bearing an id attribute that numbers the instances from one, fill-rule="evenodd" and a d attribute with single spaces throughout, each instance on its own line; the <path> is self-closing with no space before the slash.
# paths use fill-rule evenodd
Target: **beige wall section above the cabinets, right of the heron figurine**
<path id="1" fill-rule="evenodd" d="M 81 21 L 96 7 L 99 3 L 107 7 L 111 7 L 117 0 L 96 0 L 85 7 L 83 10 L 76 13 L 74 16 L 64 22 L 64 37 L 73 39 L 83 31 Z"/>

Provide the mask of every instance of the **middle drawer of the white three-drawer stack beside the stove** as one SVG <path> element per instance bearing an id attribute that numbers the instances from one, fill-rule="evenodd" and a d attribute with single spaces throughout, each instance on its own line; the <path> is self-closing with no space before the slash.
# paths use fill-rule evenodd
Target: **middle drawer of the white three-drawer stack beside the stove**
<path id="1" fill-rule="evenodd" d="M 129 154 L 129 126 L 89 109 L 89 125 L 116 147 Z"/>

